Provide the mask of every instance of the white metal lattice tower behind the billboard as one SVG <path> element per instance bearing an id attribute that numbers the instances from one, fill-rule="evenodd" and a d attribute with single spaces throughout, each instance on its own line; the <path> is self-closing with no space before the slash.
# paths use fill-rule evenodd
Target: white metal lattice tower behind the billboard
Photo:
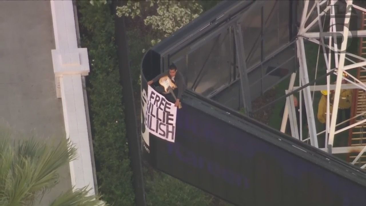
<path id="1" fill-rule="evenodd" d="M 361 158 L 366 151 L 366 131 L 363 135 L 363 127 L 366 130 L 366 118 L 363 118 L 366 114 L 366 8 L 356 5 L 360 3 L 362 1 L 303 1 L 304 9 L 301 14 L 296 39 L 299 72 L 298 74 L 292 74 L 290 85 L 285 92 L 286 94 L 291 92 L 300 93 L 300 110 L 305 106 L 309 135 L 304 137 L 302 135 L 303 124 L 297 125 L 292 95 L 288 96 L 286 100 L 281 132 L 285 131 L 287 119 L 290 118 L 293 137 L 302 141 L 310 141 L 312 146 L 329 153 L 347 154 L 349 162 L 352 164 L 357 163 L 364 169 L 366 167 L 366 158 L 365 161 Z M 350 30 L 352 21 L 356 21 L 353 22 L 353 25 L 357 25 L 354 30 Z M 354 41 L 358 42 L 358 52 L 350 52 L 349 45 L 352 42 L 355 43 Z M 309 54 L 306 53 L 305 44 L 318 45 L 315 73 L 313 70 L 308 70 L 309 59 L 307 60 L 307 56 Z M 318 67 L 320 61 L 324 61 L 325 67 Z M 326 76 L 326 84 L 316 85 L 317 79 L 322 78 L 319 75 L 317 77 L 320 70 L 323 70 L 322 73 L 326 74 L 323 76 Z M 294 86 L 296 76 L 299 80 L 298 86 Z M 309 76 L 311 79 L 315 76 L 314 81 L 309 81 Z M 344 76 L 348 76 L 348 78 Z M 336 78 L 335 83 L 331 82 L 331 78 Z M 346 80 L 346 83 L 344 81 L 342 83 L 342 80 Z M 343 122 L 337 122 L 342 89 L 352 89 L 353 91 L 351 118 Z M 328 94 L 331 92 L 334 95 L 333 100 L 329 98 L 330 95 L 327 95 L 325 130 L 320 129 L 319 126 L 318 129 L 316 128 L 317 114 L 314 113 L 314 110 L 318 102 L 313 101 L 314 93 L 320 94 L 322 90 L 326 90 Z M 302 98 L 304 98 L 304 101 L 302 101 Z M 305 105 L 302 102 L 305 102 Z M 331 105 L 332 107 L 330 107 Z M 300 122 L 302 121 L 301 114 L 300 112 Z M 345 122 L 349 122 L 350 125 L 340 128 Z M 300 132 L 298 132 L 298 127 L 300 127 Z M 347 137 L 337 135 L 346 130 L 349 131 Z M 324 136 L 324 133 L 324 143 L 318 144 L 320 140 L 318 137 Z M 337 138 L 348 138 L 348 146 L 334 147 Z M 319 145 L 325 145 L 325 147 L 320 148 Z M 354 155 L 352 156 L 352 154 Z"/>

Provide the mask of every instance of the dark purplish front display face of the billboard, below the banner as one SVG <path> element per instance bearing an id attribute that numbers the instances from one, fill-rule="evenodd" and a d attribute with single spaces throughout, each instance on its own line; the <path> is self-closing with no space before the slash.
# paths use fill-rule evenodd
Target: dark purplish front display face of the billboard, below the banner
<path id="1" fill-rule="evenodd" d="M 149 103 L 149 89 L 142 78 L 144 114 L 155 101 Z M 263 135 L 270 137 L 270 132 L 249 123 L 243 129 L 239 125 L 245 122 L 230 114 L 219 117 L 222 111 L 193 96 L 185 95 L 182 104 L 170 125 L 174 141 L 142 124 L 144 157 L 154 168 L 239 206 L 351 206 L 366 201 L 365 186 L 285 150 L 280 140 L 266 141 Z M 142 122 L 148 117 L 144 114 Z"/>

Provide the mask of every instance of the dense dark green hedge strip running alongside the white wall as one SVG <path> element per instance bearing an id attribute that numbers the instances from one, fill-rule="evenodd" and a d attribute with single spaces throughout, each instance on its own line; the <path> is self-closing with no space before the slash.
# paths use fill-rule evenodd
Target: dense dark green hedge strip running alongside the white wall
<path id="1" fill-rule="evenodd" d="M 109 204 L 134 205 L 113 15 L 109 5 L 77 3 L 81 43 L 90 62 L 87 92 L 99 191 Z"/>

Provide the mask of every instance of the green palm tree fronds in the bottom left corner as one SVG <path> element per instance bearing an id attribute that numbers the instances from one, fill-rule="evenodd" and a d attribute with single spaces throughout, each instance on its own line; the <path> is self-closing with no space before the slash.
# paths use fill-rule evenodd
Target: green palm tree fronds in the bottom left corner
<path id="1" fill-rule="evenodd" d="M 36 198 L 57 184 L 57 170 L 75 158 L 76 148 L 66 138 L 51 147 L 33 137 L 12 141 L 9 135 L 0 134 L 0 205 L 33 206 Z M 72 189 L 49 206 L 105 205 L 99 197 L 87 196 L 87 187 Z"/>

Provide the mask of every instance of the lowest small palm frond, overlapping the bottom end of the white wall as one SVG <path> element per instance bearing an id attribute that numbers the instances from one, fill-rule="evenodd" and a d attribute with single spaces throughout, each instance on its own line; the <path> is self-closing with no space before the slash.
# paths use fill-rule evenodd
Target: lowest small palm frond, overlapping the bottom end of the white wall
<path id="1" fill-rule="evenodd" d="M 91 189 L 83 187 L 72 192 L 73 188 L 61 194 L 50 206 L 108 206 L 100 197 L 87 196 Z"/>

